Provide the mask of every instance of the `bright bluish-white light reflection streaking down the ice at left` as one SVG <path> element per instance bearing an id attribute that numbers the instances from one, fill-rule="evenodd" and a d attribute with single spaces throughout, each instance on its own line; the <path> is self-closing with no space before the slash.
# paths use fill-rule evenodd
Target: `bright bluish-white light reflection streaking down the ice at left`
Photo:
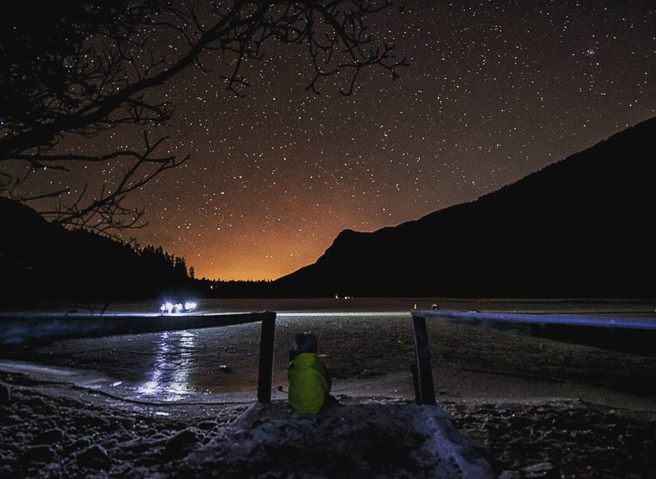
<path id="1" fill-rule="evenodd" d="M 136 392 L 164 401 L 178 401 L 190 394 L 188 380 L 194 366 L 195 339 L 193 331 L 161 333 L 148 381 L 136 386 Z"/>

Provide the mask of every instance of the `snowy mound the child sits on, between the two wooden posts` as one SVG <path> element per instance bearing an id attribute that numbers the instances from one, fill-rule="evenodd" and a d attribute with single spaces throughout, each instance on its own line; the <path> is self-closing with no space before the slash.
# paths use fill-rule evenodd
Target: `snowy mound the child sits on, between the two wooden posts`
<path id="1" fill-rule="evenodd" d="M 296 415 L 285 403 L 254 404 L 185 463 L 222 477 L 495 477 L 440 407 L 415 405 Z"/>

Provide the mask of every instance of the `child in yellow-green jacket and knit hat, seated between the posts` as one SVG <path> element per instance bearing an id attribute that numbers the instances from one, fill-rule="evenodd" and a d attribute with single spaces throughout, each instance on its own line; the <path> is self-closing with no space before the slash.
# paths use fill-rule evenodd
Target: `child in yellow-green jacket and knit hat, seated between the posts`
<path id="1" fill-rule="evenodd" d="M 299 334 L 289 352 L 289 406 L 298 414 L 316 414 L 322 407 L 334 406 L 331 377 L 325 364 L 317 357 L 317 339 L 311 334 Z"/>

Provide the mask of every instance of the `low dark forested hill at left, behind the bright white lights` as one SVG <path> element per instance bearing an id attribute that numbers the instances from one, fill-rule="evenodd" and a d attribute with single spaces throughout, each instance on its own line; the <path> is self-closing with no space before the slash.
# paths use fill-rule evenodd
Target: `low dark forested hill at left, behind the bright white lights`
<path id="1" fill-rule="evenodd" d="M 0 198 L 0 309 L 20 302 L 109 301 L 163 297 L 191 286 L 184 259 L 152 246 L 133 248 L 85 230 L 47 222 L 26 205 Z"/>

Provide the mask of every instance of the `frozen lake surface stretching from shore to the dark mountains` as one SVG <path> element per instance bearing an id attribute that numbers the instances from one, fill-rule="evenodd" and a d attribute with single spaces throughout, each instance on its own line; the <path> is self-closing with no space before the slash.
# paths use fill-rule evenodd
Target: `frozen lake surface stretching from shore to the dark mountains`
<path id="1" fill-rule="evenodd" d="M 289 348 L 314 333 L 343 401 L 414 397 L 409 364 L 414 337 L 409 310 L 594 314 L 653 318 L 639 301 L 449 301 L 415 299 L 211 300 L 202 312 L 277 312 L 274 390 L 286 385 Z M 97 306 L 96 306 L 97 307 Z M 87 312 L 87 305 L 39 310 Z M 106 314 L 157 311 L 154 302 L 110 304 Z M 656 408 L 656 358 L 560 343 L 486 327 L 428 322 L 438 400 L 585 397 Z M 255 400 L 259 323 L 220 328 L 72 339 L 4 348 L 0 369 L 31 371 L 138 402 L 214 403 Z M 38 367 L 35 365 L 39 365 Z M 39 369 L 39 367 L 49 369 Z M 35 369 L 36 368 L 36 369 Z M 284 398 L 274 393 L 274 398 Z"/>

